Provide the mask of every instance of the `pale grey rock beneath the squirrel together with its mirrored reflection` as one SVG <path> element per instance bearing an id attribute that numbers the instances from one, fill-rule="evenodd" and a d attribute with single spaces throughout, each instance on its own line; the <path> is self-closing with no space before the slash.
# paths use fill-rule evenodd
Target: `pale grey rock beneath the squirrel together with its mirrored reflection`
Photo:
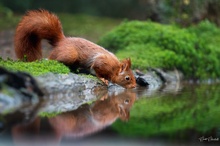
<path id="1" fill-rule="evenodd" d="M 42 111 L 47 113 L 76 109 L 96 100 L 99 97 L 98 91 L 107 90 L 99 80 L 73 73 L 48 73 L 36 77 L 36 80 L 45 94 L 46 105 Z"/>

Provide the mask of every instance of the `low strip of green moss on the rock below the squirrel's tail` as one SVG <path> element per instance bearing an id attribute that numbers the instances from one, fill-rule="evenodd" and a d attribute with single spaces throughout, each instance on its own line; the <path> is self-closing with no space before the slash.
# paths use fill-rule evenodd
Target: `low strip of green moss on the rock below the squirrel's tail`
<path id="1" fill-rule="evenodd" d="M 24 71 L 38 76 L 48 72 L 69 73 L 70 70 L 64 64 L 54 60 L 39 60 L 35 62 L 22 62 L 0 59 L 0 66 L 14 71 Z"/>

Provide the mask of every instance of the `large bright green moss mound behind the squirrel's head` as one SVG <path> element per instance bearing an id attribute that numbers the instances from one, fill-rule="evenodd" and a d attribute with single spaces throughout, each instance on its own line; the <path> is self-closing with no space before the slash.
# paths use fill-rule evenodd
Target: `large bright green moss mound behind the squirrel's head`
<path id="1" fill-rule="evenodd" d="M 220 76 L 219 39 L 220 29 L 208 21 L 187 29 L 130 21 L 103 36 L 99 44 L 120 59 L 130 57 L 133 68 L 176 68 L 187 78 L 206 79 Z"/>

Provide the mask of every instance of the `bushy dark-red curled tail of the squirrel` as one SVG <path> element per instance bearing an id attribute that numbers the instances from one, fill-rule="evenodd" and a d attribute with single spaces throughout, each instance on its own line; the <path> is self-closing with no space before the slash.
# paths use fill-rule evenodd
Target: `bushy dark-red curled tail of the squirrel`
<path id="1" fill-rule="evenodd" d="M 16 56 L 34 61 L 42 58 L 41 40 L 46 39 L 52 46 L 63 39 L 59 18 L 46 10 L 28 11 L 17 26 L 14 38 Z"/>

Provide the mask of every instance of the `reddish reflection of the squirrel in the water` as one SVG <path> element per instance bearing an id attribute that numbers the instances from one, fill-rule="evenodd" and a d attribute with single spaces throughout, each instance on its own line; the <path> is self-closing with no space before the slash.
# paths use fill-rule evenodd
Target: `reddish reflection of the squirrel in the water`
<path id="1" fill-rule="evenodd" d="M 117 95 L 106 93 L 105 96 L 91 105 L 84 104 L 77 110 L 64 112 L 46 119 L 46 126 L 45 121 L 43 122 L 39 117 L 29 125 L 17 125 L 12 129 L 13 138 L 15 141 L 26 140 L 30 133 L 35 133 L 33 139 L 45 137 L 42 133 L 51 133 L 50 136 L 54 135 L 55 139 L 54 137 L 51 138 L 57 142 L 62 137 L 83 137 L 104 129 L 117 118 L 127 121 L 135 99 L 136 93 L 130 90 Z"/>

